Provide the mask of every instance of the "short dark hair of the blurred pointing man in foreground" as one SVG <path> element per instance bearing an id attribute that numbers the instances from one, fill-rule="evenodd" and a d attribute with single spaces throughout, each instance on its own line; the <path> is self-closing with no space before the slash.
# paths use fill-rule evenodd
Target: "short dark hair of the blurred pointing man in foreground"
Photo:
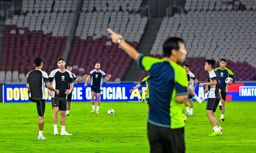
<path id="1" fill-rule="evenodd" d="M 179 43 L 185 44 L 185 41 L 179 37 L 169 37 L 163 42 L 163 54 L 165 57 L 170 57 L 172 50 L 179 51 Z"/>

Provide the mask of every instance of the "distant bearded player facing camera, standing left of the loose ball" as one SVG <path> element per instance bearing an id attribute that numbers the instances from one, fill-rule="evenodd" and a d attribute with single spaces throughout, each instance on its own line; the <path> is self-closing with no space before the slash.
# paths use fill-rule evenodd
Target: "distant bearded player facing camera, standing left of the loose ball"
<path id="1" fill-rule="evenodd" d="M 105 72 L 103 72 L 100 69 L 100 63 L 96 63 L 95 64 L 95 69 L 90 71 L 90 75 L 87 77 L 87 80 L 84 84 L 84 87 L 86 87 L 88 85 L 88 82 L 91 78 L 91 107 L 93 107 L 93 110 L 91 111 L 91 113 L 95 112 L 95 94 L 97 95 L 97 108 L 96 108 L 96 114 L 99 114 L 99 109 L 100 109 L 100 88 L 102 85 L 102 78 L 104 78 L 106 81 L 109 81 L 111 78 L 111 74 L 105 74 Z"/>

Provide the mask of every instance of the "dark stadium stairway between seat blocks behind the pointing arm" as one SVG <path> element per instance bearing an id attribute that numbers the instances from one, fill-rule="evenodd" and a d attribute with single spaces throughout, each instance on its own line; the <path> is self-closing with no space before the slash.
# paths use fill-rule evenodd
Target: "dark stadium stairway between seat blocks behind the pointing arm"
<path id="1" fill-rule="evenodd" d="M 146 25 L 144 34 L 141 37 L 141 41 L 137 50 L 144 54 L 149 55 L 150 50 L 153 47 L 153 44 L 156 39 L 157 32 L 161 26 L 163 18 L 153 18 Z M 135 78 L 138 78 L 140 75 L 140 68 L 137 67 L 137 62 L 133 61 L 131 63 L 130 69 L 127 72 L 125 81 L 134 81 Z"/>

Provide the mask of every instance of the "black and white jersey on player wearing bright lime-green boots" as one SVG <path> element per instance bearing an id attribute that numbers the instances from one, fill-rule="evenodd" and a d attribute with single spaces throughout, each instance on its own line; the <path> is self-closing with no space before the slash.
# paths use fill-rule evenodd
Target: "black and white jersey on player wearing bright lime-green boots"
<path id="1" fill-rule="evenodd" d="M 217 81 L 217 84 L 208 86 L 208 98 L 221 98 L 219 95 L 219 79 L 218 79 L 218 74 L 216 71 L 211 70 L 208 76 L 208 82 L 211 82 L 213 80 Z"/>

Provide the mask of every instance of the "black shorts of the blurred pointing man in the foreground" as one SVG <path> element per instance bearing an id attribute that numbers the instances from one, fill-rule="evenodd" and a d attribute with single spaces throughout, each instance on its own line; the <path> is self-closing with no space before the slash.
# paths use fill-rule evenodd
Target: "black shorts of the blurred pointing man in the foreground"
<path id="1" fill-rule="evenodd" d="M 185 153 L 184 128 L 171 129 L 147 122 L 151 153 Z"/>

